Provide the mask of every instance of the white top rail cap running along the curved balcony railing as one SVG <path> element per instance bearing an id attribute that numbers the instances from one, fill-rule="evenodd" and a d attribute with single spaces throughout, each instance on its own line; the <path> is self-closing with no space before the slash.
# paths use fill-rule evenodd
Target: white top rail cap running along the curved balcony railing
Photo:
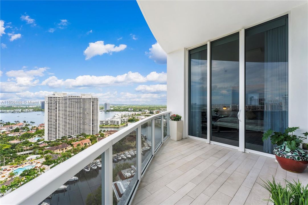
<path id="1" fill-rule="evenodd" d="M 102 139 L 91 147 L 88 147 L 77 155 L 74 155 L 70 159 L 55 166 L 46 173 L 39 175 L 37 178 L 5 195 L 0 199 L 0 204 L 36 205 L 41 203 L 47 196 L 51 195 L 56 189 L 66 183 L 68 179 L 82 170 L 83 167 L 87 166 L 93 159 L 101 155 L 109 147 L 124 138 L 130 132 L 136 130 L 137 127 L 158 116 L 170 112 L 171 111 L 166 111 L 152 115 Z"/>

